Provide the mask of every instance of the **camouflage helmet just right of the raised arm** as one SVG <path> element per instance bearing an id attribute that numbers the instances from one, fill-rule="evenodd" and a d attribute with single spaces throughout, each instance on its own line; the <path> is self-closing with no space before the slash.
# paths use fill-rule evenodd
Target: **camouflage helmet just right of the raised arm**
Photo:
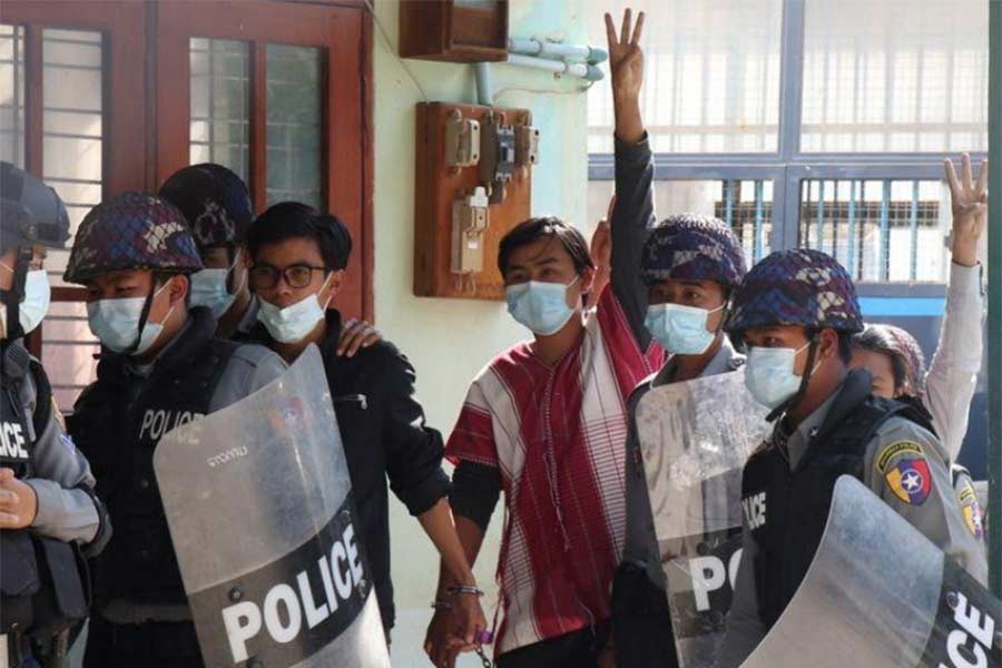
<path id="1" fill-rule="evenodd" d="M 741 243 L 724 220 L 700 214 L 678 214 L 661 222 L 647 238 L 640 276 L 659 281 L 716 281 L 740 285 L 747 268 Z"/>

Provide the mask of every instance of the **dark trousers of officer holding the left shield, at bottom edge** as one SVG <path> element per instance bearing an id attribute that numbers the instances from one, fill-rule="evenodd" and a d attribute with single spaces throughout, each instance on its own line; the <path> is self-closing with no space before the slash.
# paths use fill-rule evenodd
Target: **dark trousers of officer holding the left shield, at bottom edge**
<path id="1" fill-rule="evenodd" d="M 84 668 L 204 668 L 195 625 L 110 623 L 94 617 Z"/>

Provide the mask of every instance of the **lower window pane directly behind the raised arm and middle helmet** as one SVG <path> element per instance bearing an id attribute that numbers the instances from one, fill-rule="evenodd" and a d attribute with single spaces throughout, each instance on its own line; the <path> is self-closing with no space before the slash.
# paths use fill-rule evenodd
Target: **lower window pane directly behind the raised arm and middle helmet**
<path id="1" fill-rule="evenodd" d="M 741 239 L 749 267 L 772 252 L 772 180 L 656 180 L 654 187 L 658 219 L 680 213 L 720 218 Z M 611 195 L 611 180 L 588 181 L 589 234 L 606 217 Z"/>

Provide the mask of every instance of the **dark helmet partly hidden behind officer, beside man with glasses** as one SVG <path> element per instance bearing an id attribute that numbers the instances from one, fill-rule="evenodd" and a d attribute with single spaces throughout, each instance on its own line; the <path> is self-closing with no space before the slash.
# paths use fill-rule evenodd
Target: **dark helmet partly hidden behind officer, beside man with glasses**
<path id="1" fill-rule="evenodd" d="M 246 243 L 254 219 L 250 193 L 226 167 L 205 163 L 179 169 L 159 196 L 181 210 L 199 248 Z"/>

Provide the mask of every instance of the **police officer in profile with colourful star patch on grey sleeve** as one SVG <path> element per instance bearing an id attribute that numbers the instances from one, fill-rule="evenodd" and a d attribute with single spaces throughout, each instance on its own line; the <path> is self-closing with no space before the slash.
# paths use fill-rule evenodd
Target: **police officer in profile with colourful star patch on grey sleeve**
<path id="1" fill-rule="evenodd" d="M 743 474 L 744 552 L 720 665 L 739 665 L 789 603 L 843 474 L 984 581 L 988 564 L 964 525 L 940 441 L 906 404 L 873 396 L 866 370 L 848 369 L 863 318 L 835 259 L 773 253 L 746 276 L 727 327 L 750 346 L 746 383 L 776 425 Z"/>

